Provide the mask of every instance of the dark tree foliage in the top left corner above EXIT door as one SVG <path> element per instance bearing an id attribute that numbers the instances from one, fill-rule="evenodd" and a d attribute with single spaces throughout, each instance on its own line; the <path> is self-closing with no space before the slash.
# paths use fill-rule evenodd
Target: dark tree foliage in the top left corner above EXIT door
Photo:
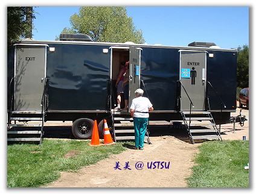
<path id="1" fill-rule="evenodd" d="M 34 12 L 30 12 L 28 7 L 7 7 L 7 44 L 12 41 L 18 41 L 24 38 L 32 27 L 30 21 L 26 20 L 26 16 L 30 14 L 32 19 L 36 18 Z"/>

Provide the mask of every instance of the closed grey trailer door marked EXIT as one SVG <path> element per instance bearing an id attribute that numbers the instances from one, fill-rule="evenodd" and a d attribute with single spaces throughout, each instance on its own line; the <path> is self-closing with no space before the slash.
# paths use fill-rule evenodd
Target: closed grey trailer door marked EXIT
<path id="1" fill-rule="evenodd" d="M 47 45 L 16 45 L 14 110 L 41 111 Z"/>

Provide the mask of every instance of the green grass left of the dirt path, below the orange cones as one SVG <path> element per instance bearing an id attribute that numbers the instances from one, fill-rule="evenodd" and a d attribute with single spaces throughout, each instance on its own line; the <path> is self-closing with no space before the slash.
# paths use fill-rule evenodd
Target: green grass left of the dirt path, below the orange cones
<path id="1" fill-rule="evenodd" d="M 62 171 L 77 172 L 82 166 L 95 164 L 111 154 L 119 154 L 126 149 L 123 144 L 127 142 L 97 147 L 91 147 L 88 143 L 90 142 L 45 139 L 42 146 L 33 144 L 8 145 L 7 187 L 43 186 L 60 178 Z M 82 152 L 75 157 L 63 158 L 72 150 Z"/>

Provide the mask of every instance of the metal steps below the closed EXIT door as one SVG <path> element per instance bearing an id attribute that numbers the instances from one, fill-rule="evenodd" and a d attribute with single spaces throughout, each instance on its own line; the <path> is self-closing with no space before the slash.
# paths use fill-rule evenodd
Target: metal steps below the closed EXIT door
<path id="1" fill-rule="evenodd" d="M 28 121 L 33 123 L 28 124 Z M 41 145 L 42 140 L 43 114 L 41 111 L 11 111 L 7 126 L 8 142 L 39 142 Z"/>

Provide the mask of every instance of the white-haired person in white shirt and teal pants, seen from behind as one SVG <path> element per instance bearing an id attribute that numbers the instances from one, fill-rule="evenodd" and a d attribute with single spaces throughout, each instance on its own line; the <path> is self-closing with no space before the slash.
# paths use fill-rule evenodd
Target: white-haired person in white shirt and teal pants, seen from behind
<path id="1" fill-rule="evenodd" d="M 135 130 L 134 149 L 143 149 L 147 122 L 149 121 L 149 111 L 154 110 L 149 99 L 142 97 L 143 93 L 142 89 L 137 89 L 135 91 L 136 98 L 132 100 L 132 105 L 130 105 L 130 114 L 133 117 Z"/>

